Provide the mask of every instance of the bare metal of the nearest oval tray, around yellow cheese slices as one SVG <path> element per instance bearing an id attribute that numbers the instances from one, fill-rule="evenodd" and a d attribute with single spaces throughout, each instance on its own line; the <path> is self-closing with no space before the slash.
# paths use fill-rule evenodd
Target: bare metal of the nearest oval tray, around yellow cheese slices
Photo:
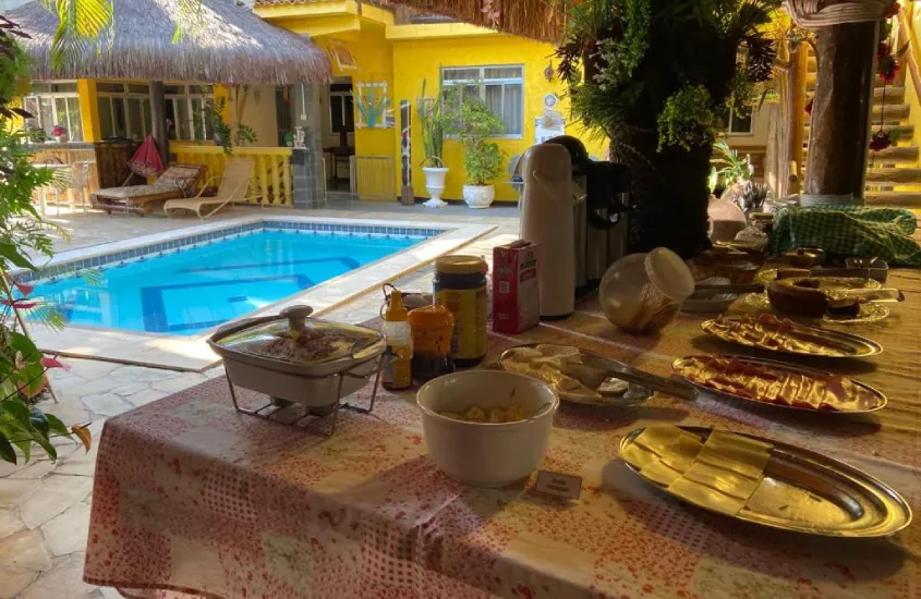
<path id="1" fill-rule="evenodd" d="M 703 427 L 678 428 L 702 441 L 713 431 Z M 620 440 L 620 452 L 643 430 L 638 428 L 627 433 Z M 905 499 L 877 478 L 821 453 L 754 435 L 735 435 L 771 443 L 773 448 L 761 484 L 746 506 L 730 517 L 828 537 L 883 537 L 911 523 L 911 508 Z M 627 466 L 646 482 L 672 494 L 638 468 Z M 713 511 L 706 505 L 692 504 Z"/>

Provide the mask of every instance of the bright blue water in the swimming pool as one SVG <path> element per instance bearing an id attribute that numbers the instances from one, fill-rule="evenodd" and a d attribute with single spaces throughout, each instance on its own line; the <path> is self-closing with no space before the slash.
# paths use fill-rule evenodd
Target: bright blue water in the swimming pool
<path id="1" fill-rule="evenodd" d="M 97 267 L 101 284 L 39 281 L 34 296 L 56 304 L 70 325 L 191 335 L 420 241 L 260 230 Z"/>

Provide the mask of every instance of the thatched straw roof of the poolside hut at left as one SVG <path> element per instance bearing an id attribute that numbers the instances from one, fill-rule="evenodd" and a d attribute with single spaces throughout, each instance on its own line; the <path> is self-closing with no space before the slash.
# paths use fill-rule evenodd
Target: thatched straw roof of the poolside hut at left
<path id="1" fill-rule="evenodd" d="M 4 13 L 32 39 L 22 39 L 35 58 L 33 76 L 51 78 L 126 78 L 223 84 L 323 83 L 331 81 L 326 53 L 306 36 L 259 19 L 231 0 L 202 0 L 190 26 L 177 0 L 116 0 L 112 32 L 99 46 L 51 64 L 51 39 L 58 16 L 33 0 Z M 184 23 L 173 42 L 175 24 Z"/>

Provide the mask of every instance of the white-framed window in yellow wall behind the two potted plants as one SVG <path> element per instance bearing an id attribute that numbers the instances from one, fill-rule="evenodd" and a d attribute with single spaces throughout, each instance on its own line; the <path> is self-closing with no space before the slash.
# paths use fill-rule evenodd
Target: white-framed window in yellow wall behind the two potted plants
<path id="1" fill-rule="evenodd" d="M 524 68 L 452 66 L 441 70 L 444 87 L 463 86 L 463 97 L 478 97 L 499 115 L 507 137 L 524 134 Z"/>

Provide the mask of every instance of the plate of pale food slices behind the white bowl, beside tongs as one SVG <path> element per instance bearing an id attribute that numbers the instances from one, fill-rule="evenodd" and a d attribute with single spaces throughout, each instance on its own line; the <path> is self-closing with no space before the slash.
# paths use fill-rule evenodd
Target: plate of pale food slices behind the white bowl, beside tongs
<path id="1" fill-rule="evenodd" d="M 559 393 L 586 399 L 618 398 L 630 386 L 608 376 L 606 370 L 583 363 L 578 347 L 542 344 L 512 347 L 502 356 L 502 367 L 540 379 Z"/>

